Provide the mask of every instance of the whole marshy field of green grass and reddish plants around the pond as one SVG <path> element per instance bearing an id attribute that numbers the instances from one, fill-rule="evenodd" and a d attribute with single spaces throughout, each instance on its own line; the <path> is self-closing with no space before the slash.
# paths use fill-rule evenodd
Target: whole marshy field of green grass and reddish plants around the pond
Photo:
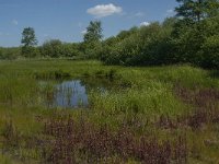
<path id="1" fill-rule="evenodd" d="M 89 109 L 42 105 L 80 79 Z M 96 82 L 97 83 L 97 82 Z M 125 68 L 99 61 L 0 61 L 0 163 L 219 163 L 219 73 L 191 66 Z"/>

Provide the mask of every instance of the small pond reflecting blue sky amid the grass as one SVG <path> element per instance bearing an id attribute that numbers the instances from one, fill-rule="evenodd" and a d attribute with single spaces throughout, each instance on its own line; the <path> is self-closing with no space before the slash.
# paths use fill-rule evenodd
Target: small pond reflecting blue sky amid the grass
<path id="1" fill-rule="evenodd" d="M 44 86 L 44 105 L 48 108 L 87 108 L 89 107 L 88 92 L 99 90 L 105 92 L 105 82 L 70 80 L 62 82 L 41 82 Z"/>

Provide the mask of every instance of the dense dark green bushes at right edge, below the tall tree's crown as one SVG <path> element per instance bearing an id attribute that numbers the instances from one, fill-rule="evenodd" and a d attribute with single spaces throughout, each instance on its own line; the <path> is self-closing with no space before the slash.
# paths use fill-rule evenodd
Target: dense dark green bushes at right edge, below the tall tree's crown
<path id="1" fill-rule="evenodd" d="M 171 36 L 172 59 L 191 62 L 204 68 L 218 68 L 219 16 L 203 20 L 197 24 L 178 21 Z"/>

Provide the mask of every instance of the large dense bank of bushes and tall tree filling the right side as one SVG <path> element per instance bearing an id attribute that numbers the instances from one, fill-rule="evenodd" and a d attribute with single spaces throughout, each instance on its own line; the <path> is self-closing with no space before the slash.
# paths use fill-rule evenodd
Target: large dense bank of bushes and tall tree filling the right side
<path id="1" fill-rule="evenodd" d="M 176 17 L 123 31 L 104 40 L 101 60 L 124 66 L 192 63 L 219 68 L 218 1 L 177 2 Z"/>

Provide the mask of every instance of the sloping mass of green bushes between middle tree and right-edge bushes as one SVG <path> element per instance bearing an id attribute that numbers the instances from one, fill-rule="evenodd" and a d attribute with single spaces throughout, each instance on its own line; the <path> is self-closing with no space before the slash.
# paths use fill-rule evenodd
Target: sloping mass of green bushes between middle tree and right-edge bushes
<path id="1" fill-rule="evenodd" d="M 172 28 L 165 24 L 152 23 L 122 32 L 116 38 L 105 40 L 102 60 L 110 65 L 159 65 L 168 50 L 166 40 Z"/>

